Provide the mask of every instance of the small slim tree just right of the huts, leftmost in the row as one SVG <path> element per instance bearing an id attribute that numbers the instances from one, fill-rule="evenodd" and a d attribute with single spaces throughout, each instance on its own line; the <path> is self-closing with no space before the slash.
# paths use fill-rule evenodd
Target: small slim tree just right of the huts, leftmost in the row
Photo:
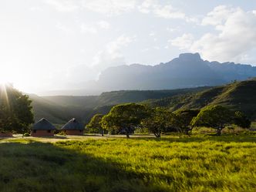
<path id="1" fill-rule="evenodd" d="M 86 130 L 89 130 L 89 133 L 101 133 L 101 135 L 104 136 L 104 130 L 100 123 L 102 118 L 103 114 L 94 115 L 88 123 L 88 125 L 86 126 Z"/>

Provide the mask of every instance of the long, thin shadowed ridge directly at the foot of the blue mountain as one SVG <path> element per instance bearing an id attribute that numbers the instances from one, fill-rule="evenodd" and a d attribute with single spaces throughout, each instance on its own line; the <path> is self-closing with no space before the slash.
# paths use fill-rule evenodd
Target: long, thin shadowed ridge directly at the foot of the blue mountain
<path id="1" fill-rule="evenodd" d="M 93 109 L 99 106 L 140 102 L 147 99 L 160 99 L 178 94 L 194 93 L 207 88 L 209 87 L 170 90 L 120 90 L 105 92 L 99 96 L 41 96 L 41 98 L 60 106 L 76 106 L 84 109 Z"/>

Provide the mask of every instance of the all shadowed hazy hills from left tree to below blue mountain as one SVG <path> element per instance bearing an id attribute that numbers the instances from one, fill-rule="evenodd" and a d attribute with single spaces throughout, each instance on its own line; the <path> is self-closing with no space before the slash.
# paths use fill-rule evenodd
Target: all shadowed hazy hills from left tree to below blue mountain
<path id="1" fill-rule="evenodd" d="M 36 96 L 32 99 L 35 120 L 42 117 L 52 123 L 65 123 L 72 117 L 87 123 L 96 113 L 108 113 L 112 106 L 120 103 L 141 102 L 146 99 L 160 99 L 184 93 L 195 93 L 208 87 L 157 91 L 113 91 L 100 96 Z"/>

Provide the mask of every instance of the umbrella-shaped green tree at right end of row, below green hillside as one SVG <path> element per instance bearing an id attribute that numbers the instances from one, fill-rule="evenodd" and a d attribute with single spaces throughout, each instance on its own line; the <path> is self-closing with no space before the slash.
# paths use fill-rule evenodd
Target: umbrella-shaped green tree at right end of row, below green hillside
<path id="1" fill-rule="evenodd" d="M 191 126 L 207 126 L 216 129 L 217 135 L 233 122 L 234 113 L 224 106 L 206 106 L 191 121 Z"/>

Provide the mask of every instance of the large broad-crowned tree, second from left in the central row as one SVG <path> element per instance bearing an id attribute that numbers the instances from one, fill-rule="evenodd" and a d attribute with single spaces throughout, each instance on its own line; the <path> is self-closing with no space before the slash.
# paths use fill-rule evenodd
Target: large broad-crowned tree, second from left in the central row
<path id="1" fill-rule="evenodd" d="M 103 129 L 110 133 L 124 131 L 129 138 L 130 133 L 140 125 L 141 120 L 147 116 L 145 106 L 136 103 L 127 103 L 113 106 L 110 112 L 103 116 L 101 121 Z"/>

